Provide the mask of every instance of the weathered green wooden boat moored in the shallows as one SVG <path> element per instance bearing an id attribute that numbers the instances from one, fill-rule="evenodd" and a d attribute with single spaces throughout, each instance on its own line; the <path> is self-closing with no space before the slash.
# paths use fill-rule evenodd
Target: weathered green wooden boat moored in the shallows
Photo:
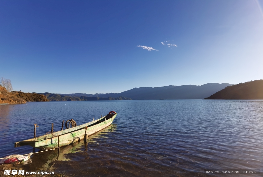
<path id="1" fill-rule="evenodd" d="M 100 119 L 58 132 L 31 138 L 29 140 L 19 141 L 14 144 L 14 147 L 29 144 L 32 147 L 47 150 L 62 147 L 70 143 L 77 142 L 83 138 L 84 140 L 87 140 L 87 137 L 89 135 L 92 135 L 93 133 L 96 133 L 112 124 L 112 121 L 114 120 L 116 115 L 116 112 L 110 111 L 109 114 L 101 117 Z M 67 127 L 67 122 L 65 125 Z"/>

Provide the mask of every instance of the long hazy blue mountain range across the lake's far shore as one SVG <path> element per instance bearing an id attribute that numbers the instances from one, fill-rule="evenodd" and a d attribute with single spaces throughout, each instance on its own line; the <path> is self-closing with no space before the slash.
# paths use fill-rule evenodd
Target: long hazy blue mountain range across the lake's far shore
<path id="1" fill-rule="evenodd" d="M 224 89 L 233 84 L 228 83 L 208 83 L 204 85 L 169 85 L 164 87 L 140 87 L 124 91 L 122 93 L 105 93 L 105 94 L 86 94 L 86 93 L 73 93 L 73 94 L 50 94 L 40 93 L 47 96 L 50 101 L 61 100 L 92 100 L 97 97 L 100 99 L 117 98 L 120 99 L 133 99 L 133 100 L 159 100 L 159 99 L 204 99 L 219 90 Z M 52 97 L 52 98 L 51 98 Z M 108 99 L 110 100 L 110 99 Z"/>

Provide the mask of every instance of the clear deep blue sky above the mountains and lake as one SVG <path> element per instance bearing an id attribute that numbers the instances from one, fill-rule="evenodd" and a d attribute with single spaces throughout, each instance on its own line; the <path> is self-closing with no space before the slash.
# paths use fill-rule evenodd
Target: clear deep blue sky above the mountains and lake
<path id="1" fill-rule="evenodd" d="M 0 77 L 23 92 L 90 94 L 263 79 L 262 6 L 1 0 Z"/>

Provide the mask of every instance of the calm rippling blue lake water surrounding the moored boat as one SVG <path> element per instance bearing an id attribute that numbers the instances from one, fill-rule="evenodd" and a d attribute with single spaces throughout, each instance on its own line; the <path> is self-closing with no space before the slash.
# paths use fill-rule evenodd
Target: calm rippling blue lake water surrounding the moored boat
<path id="1" fill-rule="evenodd" d="M 54 101 L 0 105 L 1 157 L 33 152 L 14 142 L 118 113 L 113 124 L 16 167 L 74 176 L 227 176 L 204 169 L 261 169 L 263 100 Z M 36 152 L 39 150 L 36 149 Z M 232 175 L 228 175 L 232 176 Z M 235 175 L 258 176 L 258 175 Z"/>

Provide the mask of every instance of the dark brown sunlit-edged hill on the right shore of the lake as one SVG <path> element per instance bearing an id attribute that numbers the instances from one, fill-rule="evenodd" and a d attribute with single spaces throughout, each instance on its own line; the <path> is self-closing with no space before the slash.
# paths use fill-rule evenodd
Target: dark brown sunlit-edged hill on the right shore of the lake
<path id="1" fill-rule="evenodd" d="M 263 99 L 263 80 L 261 79 L 228 86 L 205 99 Z"/>

